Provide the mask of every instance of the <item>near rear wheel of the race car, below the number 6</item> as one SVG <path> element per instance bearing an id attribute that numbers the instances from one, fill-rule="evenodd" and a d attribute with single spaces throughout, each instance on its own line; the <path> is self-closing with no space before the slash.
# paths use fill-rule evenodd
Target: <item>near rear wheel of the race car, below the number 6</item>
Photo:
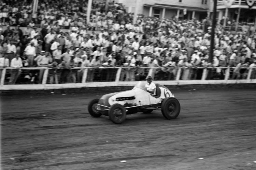
<path id="1" fill-rule="evenodd" d="M 175 119 L 181 111 L 180 102 L 175 98 L 166 98 L 161 104 L 162 115 L 166 119 Z"/>

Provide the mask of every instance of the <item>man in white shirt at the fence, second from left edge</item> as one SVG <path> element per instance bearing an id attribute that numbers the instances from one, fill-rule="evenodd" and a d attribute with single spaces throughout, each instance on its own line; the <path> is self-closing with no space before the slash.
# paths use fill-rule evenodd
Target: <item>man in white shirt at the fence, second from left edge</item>
<path id="1" fill-rule="evenodd" d="M 11 78 L 9 84 L 15 84 L 19 77 L 19 74 L 22 72 L 21 68 L 23 67 L 22 60 L 19 55 L 16 55 L 16 57 L 12 59 L 11 67 L 13 67 L 13 69 L 11 71 Z"/>

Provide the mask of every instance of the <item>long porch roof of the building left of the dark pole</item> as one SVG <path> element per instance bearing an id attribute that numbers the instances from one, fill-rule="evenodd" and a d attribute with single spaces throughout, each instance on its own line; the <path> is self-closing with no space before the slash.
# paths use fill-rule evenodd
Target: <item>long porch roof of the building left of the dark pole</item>
<path id="1" fill-rule="evenodd" d="M 168 5 L 168 4 L 144 4 L 144 6 L 153 6 L 153 7 L 162 7 L 162 8 L 170 8 L 170 9 L 177 9 L 177 10 L 183 10 L 187 9 L 188 11 L 202 11 L 206 12 L 206 8 L 200 8 L 200 7 L 193 7 L 193 6 L 180 6 L 180 5 Z"/>

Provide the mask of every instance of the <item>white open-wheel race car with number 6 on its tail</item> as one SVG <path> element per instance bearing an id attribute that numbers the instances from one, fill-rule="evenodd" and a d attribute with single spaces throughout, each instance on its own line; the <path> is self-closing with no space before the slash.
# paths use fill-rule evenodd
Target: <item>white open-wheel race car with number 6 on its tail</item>
<path id="1" fill-rule="evenodd" d="M 151 113 L 161 110 L 166 119 L 174 119 L 180 114 L 180 103 L 171 91 L 156 84 L 156 94 L 145 90 L 146 82 L 138 82 L 133 89 L 103 95 L 88 104 L 88 112 L 93 117 L 109 116 L 113 123 L 122 123 L 126 115 L 134 113 Z"/>

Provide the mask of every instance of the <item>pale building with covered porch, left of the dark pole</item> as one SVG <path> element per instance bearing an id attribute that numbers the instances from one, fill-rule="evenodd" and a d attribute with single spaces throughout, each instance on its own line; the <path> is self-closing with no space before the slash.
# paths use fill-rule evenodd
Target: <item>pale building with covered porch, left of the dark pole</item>
<path id="1" fill-rule="evenodd" d="M 180 18 L 196 20 L 209 15 L 210 0 L 139 0 L 138 14 L 146 17 Z M 134 13 L 136 0 L 115 0 L 124 4 L 126 11 Z"/>

